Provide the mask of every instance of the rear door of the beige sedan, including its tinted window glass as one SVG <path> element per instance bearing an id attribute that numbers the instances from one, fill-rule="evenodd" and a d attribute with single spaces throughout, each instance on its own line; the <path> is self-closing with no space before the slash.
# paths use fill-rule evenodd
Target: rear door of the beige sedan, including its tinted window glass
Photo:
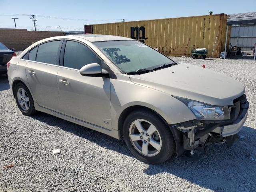
<path id="1" fill-rule="evenodd" d="M 28 52 L 26 75 L 38 105 L 55 110 L 58 105 L 57 72 L 63 40 L 40 44 Z"/>

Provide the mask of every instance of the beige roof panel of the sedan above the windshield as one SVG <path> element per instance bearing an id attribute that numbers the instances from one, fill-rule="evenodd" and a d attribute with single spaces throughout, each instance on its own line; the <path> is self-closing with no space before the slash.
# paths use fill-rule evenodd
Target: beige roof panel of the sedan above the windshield
<path id="1" fill-rule="evenodd" d="M 120 37 L 120 36 L 114 36 L 114 35 L 94 35 L 94 34 L 80 35 L 79 34 L 79 35 L 71 35 L 71 36 L 84 38 L 85 40 L 88 40 L 90 42 L 134 40 L 127 37 Z"/>

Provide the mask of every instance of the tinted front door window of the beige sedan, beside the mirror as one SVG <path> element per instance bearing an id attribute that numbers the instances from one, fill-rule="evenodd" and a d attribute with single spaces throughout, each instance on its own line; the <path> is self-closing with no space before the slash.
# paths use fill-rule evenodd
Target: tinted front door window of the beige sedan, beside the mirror
<path id="1" fill-rule="evenodd" d="M 64 67 L 81 69 L 90 63 L 101 63 L 100 58 L 88 47 L 74 41 L 67 41 L 64 52 Z"/>

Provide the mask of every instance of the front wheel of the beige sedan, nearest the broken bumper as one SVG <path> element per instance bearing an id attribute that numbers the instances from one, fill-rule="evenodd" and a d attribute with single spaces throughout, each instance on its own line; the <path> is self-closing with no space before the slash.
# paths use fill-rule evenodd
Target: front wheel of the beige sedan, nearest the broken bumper
<path id="1" fill-rule="evenodd" d="M 129 114 L 124 121 L 123 136 L 132 154 L 149 164 L 161 164 L 175 151 L 170 128 L 149 110 Z"/>

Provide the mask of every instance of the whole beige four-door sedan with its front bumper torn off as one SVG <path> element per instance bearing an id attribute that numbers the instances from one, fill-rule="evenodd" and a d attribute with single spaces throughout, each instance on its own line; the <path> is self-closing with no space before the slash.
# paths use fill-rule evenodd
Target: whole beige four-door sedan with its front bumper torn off
<path id="1" fill-rule="evenodd" d="M 238 81 L 124 37 L 47 38 L 7 66 L 24 115 L 42 111 L 124 138 L 134 156 L 152 164 L 212 142 L 231 145 L 248 113 Z"/>

